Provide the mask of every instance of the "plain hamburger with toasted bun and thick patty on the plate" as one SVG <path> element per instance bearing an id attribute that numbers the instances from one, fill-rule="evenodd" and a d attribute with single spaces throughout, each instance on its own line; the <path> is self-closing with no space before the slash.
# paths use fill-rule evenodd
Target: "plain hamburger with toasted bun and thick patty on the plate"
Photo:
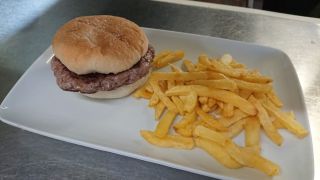
<path id="1" fill-rule="evenodd" d="M 58 86 L 92 98 L 120 98 L 145 83 L 154 48 L 144 31 L 125 18 L 83 16 L 53 37 L 51 69 Z"/>

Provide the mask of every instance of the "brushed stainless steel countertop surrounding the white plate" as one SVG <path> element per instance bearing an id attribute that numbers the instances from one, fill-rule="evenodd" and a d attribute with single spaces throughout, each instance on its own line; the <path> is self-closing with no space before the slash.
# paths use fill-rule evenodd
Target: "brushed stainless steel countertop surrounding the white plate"
<path id="1" fill-rule="evenodd" d="M 141 0 L 0 1 L 0 101 L 50 45 L 55 30 L 81 15 L 113 14 L 140 26 L 253 42 L 283 50 L 303 88 L 320 170 L 320 21 Z M 0 123 L 0 179 L 209 179 L 53 140 Z"/>

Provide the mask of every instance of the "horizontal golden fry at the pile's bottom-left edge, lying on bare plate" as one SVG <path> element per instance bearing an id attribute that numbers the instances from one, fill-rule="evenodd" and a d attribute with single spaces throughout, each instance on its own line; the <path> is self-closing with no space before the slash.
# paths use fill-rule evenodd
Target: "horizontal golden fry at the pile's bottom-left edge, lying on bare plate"
<path id="1" fill-rule="evenodd" d="M 186 138 L 178 135 L 166 135 L 163 138 L 157 137 L 152 131 L 141 130 L 140 135 L 150 144 L 179 149 L 192 149 L 194 142 L 192 138 Z"/>

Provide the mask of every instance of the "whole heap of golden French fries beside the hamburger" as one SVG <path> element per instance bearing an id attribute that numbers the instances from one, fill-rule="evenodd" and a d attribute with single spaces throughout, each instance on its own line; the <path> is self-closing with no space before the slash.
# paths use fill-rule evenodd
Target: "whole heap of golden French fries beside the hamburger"
<path id="1" fill-rule="evenodd" d="M 249 70 L 231 55 L 198 57 L 197 63 L 183 60 L 182 71 L 172 63 L 184 52 L 164 51 L 155 59 L 154 68 L 170 65 L 171 72 L 153 72 L 148 82 L 133 94 L 149 99 L 159 120 L 154 131 L 141 130 L 141 136 L 159 147 L 193 149 L 198 147 L 228 168 L 251 167 L 269 176 L 280 167 L 264 158 L 261 133 L 276 145 L 284 139 L 279 129 L 298 138 L 308 131 L 293 112 L 283 112 L 283 103 L 272 87 L 272 79 Z M 175 122 L 176 117 L 182 116 Z M 173 127 L 175 133 L 169 133 Z M 233 138 L 244 133 L 244 147 Z"/>

